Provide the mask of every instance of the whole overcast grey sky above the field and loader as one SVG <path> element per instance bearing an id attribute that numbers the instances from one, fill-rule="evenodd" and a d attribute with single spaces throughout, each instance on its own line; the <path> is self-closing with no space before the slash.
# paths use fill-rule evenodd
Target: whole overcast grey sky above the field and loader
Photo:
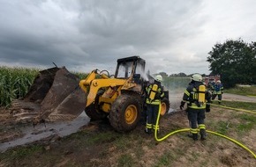
<path id="1" fill-rule="evenodd" d="M 209 74 L 225 40 L 256 41 L 255 0 L 0 0 L 0 66 L 107 69 L 139 55 L 151 73 Z"/>

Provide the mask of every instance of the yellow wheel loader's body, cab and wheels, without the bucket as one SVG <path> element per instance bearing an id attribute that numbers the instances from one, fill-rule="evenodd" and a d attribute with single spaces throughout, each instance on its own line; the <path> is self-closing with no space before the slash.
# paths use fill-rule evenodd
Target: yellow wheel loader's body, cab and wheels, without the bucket
<path id="1" fill-rule="evenodd" d="M 85 112 L 92 120 L 109 118 L 118 132 L 134 129 L 145 111 L 145 88 L 154 77 L 145 73 L 146 62 L 139 56 L 117 60 L 114 76 L 94 69 L 79 85 L 87 94 Z M 169 110 L 169 91 L 164 91 L 162 115 Z M 145 115 L 145 114 L 144 114 Z"/>

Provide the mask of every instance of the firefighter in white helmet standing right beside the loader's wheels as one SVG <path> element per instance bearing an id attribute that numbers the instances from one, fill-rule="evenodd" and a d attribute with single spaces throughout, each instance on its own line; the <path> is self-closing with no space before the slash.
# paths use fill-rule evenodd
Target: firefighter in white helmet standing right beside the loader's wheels
<path id="1" fill-rule="evenodd" d="M 159 127 L 156 127 L 156 119 L 159 111 L 159 105 L 161 104 L 161 98 L 164 96 L 163 88 L 162 88 L 162 76 L 157 75 L 154 78 L 154 83 L 149 84 L 146 87 L 147 98 L 147 123 L 146 130 L 147 134 L 152 134 L 153 130 L 157 129 L 159 131 Z"/>

